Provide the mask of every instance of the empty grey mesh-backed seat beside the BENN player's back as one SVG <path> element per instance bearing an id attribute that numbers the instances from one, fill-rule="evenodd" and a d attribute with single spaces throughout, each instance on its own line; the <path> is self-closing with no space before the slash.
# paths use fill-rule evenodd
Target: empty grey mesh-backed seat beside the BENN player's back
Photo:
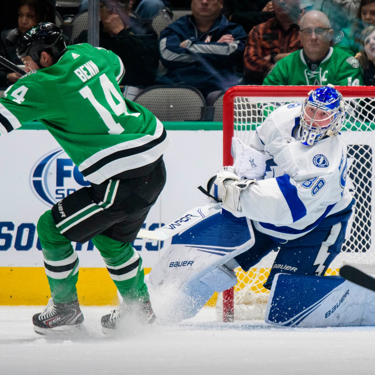
<path id="1" fill-rule="evenodd" d="M 150 86 L 133 101 L 160 121 L 209 121 L 203 95 L 192 86 Z"/>

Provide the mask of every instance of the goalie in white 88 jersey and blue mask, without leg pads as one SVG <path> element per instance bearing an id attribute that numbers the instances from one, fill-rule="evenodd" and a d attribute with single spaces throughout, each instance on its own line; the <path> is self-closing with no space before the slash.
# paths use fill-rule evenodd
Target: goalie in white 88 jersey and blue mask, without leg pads
<path id="1" fill-rule="evenodd" d="M 303 103 L 273 111 L 252 134 L 250 147 L 266 156 L 264 179 L 224 167 L 209 181 L 211 195 L 254 226 L 254 246 L 228 266 L 249 270 L 279 247 L 266 288 L 280 272 L 324 275 L 341 251 L 354 203 L 339 132 L 345 115 L 338 90 L 319 87 Z"/>

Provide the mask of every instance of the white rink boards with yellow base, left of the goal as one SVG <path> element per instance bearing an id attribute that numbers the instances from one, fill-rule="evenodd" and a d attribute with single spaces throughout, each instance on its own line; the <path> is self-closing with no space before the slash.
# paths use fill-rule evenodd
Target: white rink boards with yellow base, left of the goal
<path id="1" fill-rule="evenodd" d="M 221 123 L 165 123 L 171 138 L 164 155 L 166 186 L 145 229 L 157 228 L 207 200 L 196 188 L 222 166 Z M 179 129 L 179 130 L 175 130 Z M 197 130 L 201 129 L 201 130 Z M 43 305 L 48 300 L 36 225 L 39 216 L 69 193 L 87 186 L 60 145 L 39 123 L 0 138 L 0 305 Z M 117 302 L 115 286 L 92 242 L 74 244 L 80 259 L 77 289 L 84 305 Z M 137 239 L 148 273 L 163 243 Z"/>

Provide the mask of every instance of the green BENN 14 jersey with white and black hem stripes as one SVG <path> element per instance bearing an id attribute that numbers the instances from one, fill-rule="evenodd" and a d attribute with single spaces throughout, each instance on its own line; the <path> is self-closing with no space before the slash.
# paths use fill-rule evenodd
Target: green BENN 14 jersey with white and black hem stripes
<path id="1" fill-rule="evenodd" d="M 112 51 L 68 46 L 54 65 L 21 77 L 0 99 L 0 134 L 39 120 L 85 178 L 102 183 L 162 156 L 169 139 L 162 123 L 121 95 L 124 74 Z"/>

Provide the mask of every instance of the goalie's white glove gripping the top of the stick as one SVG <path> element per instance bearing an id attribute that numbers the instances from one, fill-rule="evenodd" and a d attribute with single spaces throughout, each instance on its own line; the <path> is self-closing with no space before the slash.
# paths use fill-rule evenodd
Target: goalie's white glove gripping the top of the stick
<path id="1" fill-rule="evenodd" d="M 257 180 L 240 180 L 233 166 L 223 166 L 207 182 L 207 191 L 231 211 L 241 211 L 240 193 Z"/>

